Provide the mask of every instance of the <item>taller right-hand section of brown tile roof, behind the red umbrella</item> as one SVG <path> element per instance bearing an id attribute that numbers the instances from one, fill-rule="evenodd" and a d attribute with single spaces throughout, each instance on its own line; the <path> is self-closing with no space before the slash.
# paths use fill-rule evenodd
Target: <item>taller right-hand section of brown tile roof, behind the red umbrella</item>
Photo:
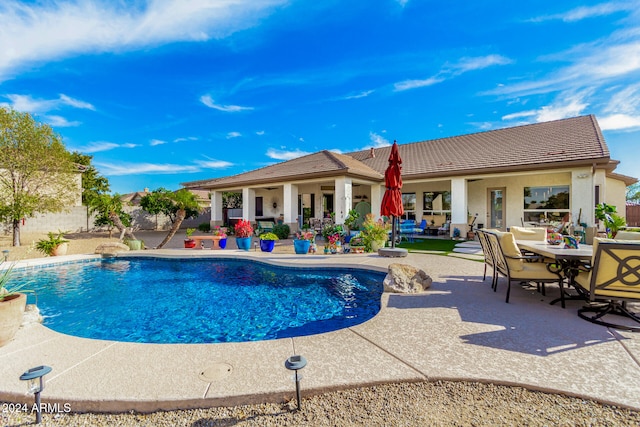
<path id="1" fill-rule="evenodd" d="M 517 126 L 399 146 L 404 179 L 461 173 L 541 169 L 559 163 L 608 163 L 594 116 Z M 391 147 L 348 153 L 373 169 L 387 167 Z"/>

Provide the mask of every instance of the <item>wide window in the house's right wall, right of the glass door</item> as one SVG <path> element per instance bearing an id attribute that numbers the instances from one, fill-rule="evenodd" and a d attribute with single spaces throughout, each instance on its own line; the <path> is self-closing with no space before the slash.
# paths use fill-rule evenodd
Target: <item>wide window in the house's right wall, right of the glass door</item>
<path id="1" fill-rule="evenodd" d="M 524 221 L 544 223 L 561 221 L 569 212 L 569 186 L 524 188 Z"/>

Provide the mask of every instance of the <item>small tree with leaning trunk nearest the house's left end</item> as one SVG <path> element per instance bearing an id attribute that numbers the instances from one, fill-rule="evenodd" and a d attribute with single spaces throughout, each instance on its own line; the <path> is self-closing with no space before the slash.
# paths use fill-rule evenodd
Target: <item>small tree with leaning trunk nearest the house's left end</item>
<path id="1" fill-rule="evenodd" d="M 196 195 L 185 188 L 176 192 L 159 188 L 140 199 L 140 206 L 150 214 L 163 213 L 171 219 L 169 234 L 156 249 L 162 249 L 173 238 L 185 218 L 197 218 L 200 215 Z"/>

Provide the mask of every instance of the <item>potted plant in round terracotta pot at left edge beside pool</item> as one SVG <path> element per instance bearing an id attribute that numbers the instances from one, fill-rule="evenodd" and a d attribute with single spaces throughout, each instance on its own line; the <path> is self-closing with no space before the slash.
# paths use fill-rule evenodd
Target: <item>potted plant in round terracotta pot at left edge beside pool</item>
<path id="1" fill-rule="evenodd" d="M 27 295 L 23 286 L 9 288 L 13 265 L 3 266 L 0 261 L 0 347 L 11 341 L 22 324 L 22 316 L 27 306 Z"/>

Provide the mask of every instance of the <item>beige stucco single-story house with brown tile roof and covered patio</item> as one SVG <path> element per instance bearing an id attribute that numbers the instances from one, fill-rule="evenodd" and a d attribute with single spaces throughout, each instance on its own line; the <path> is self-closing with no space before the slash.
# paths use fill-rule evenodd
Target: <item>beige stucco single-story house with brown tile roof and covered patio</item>
<path id="1" fill-rule="evenodd" d="M 211 194 L 211 223 L 222 223 L 222 192 L 239 192 L 243 218 L 282 217 L 292 230 L 308 218 L 349 210 L 380 215 L 391 147 L 338 154 L 320 151 L 246 173 L 183 183 Z M 545 224 L 571 214 L 594 225 L 594 207 L 625 205 L 637 179 L 616 174 L 593 115 L 517 126 L 399 146 L 407 219 L 471 222 L 505 230 Z M 624 209 L 620 209 L 624 214 Z"/>

